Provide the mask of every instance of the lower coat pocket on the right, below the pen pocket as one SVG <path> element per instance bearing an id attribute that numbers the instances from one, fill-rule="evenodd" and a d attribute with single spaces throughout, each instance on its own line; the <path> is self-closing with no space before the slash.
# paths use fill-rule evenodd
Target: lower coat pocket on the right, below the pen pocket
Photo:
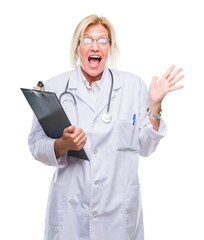
<path id="1" fill-rule="evenodd" d="M 129 186 L 124 197 L 124 216 L 126 228 L 136 227 L 139 216 L 139 185 Z"/>

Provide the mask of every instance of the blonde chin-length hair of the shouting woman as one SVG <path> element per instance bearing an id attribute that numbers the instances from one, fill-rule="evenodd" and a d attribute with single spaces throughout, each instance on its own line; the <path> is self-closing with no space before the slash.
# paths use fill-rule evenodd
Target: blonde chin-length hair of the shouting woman
<path id="1" fill-rule="evenodd" d="M 110 65 L 112 67 L 115 67 L 116 64 L 116 59 L 119 55 L 119 49 L 116 43 L 116 35 L 114 28 L 112 24 L 105 18 L 105 17 L 99 17 L 97 15 L 90 15 L 86 18 L 84 18 L 76 27 L 73 37 L 72 37 L 72 42 L 71 42 L 71 50 L 70 50 L 70 58 L 71 58 L 71 64 L 72 67 L 75 67 L 77 65 L 78 61 L 78 56 L 76 54 L 76 49 L 78 48 L 80 44 L 80 38 L 83 37 L 85 30 L 91 26 L 91 25 L 96 25 L 96 24 L 101 24 L 103 25 L 107 31 L 108 31 L 108 37 L 111 39 L 111 56 L 110 56 Z"/>

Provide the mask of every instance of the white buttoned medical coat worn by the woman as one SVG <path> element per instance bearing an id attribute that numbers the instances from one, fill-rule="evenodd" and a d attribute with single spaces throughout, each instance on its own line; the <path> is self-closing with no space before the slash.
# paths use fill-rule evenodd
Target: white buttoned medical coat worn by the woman
<path id="1" fill-rule="evenodd" d="M 70 79 L 68 91 L 78 104 L 78 126 L 86 134 L 84 149 L 90 159 L 67 157 L 66 153 L 56 159 L 55 140 L 45 135 L 34 117 L 29 135 L 31 153 L 42 163 L 56 167 L 49 191 L 45 240 L 144 239 L 138 158 L 155 151 L 166 125 L 161 119 L 158 132 L 153 130 L 147 116 L 147 89 L 139 77 L 112 72 L 109 124 L 101 120 L 111 87 L 107 68 L 96 109 L 82 82 L 79 66 L 45 84 L 46 91 L 59 97 Z M 66 94 L 61 102 L 71 123 L 76 124 L 72 97 Z"/>

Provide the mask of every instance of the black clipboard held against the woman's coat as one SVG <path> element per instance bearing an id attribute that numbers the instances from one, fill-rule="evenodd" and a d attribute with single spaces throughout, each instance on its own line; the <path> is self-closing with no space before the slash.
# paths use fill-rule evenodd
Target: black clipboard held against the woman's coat
<path id="1" fill-rule="evenodd" d="M 62 105 L 54 92 L 46 92 L 21 88 L 26 100 L 36 115 L 46 135 L 53 139 L 62 137 L 65 128 L 71 126 Z M 70 150 L 68 156 L 88 160 L 88 157 L 81 149 Z"/>

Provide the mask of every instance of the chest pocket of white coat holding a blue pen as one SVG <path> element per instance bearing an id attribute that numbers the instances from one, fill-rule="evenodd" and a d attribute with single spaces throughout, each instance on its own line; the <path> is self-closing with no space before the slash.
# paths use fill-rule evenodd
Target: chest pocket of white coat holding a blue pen
<path id="1" fill-rule="evenodd" d="M 139 128 L 135 121 L 118 120 L 116 122 L 116 149 L 138 151 L 139 144 Z"/>

